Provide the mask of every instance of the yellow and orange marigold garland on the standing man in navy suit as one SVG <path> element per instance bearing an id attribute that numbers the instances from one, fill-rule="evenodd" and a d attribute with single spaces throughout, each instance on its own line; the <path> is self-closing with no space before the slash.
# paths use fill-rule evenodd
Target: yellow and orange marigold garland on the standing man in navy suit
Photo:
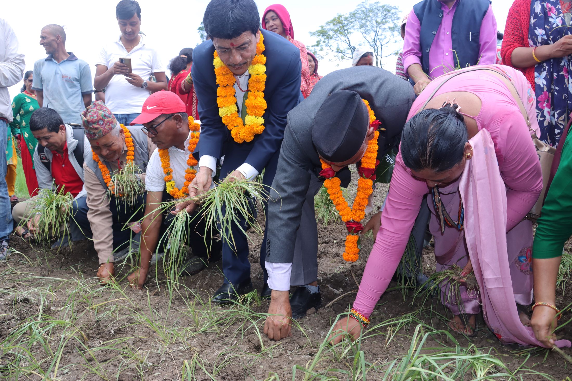
<path id="1" fill-rule="evenodd" d="M 237 143 L 250 142 L 254 135 L 264 131 L 263 115 L 267 105 L 264 99 L 266 57 L 262 54 L 264 51 L 263 41 L 263 34 L 260 34 L 260 41 L 256 44 L 256 56 L 252 60 L 251 66 L 248 67 L 248 73 L 251 77 L 248 79 L 249 93 L 245 101 L 247 116 L 244 118 L 244 123 L 236 106 L 236 77 L 221 61 L 216 50 L 214 53 L 213 65 L 215 65 L 216 83 L 219 85 L 217 89 L 219 115 L 223 119 L 223 123 L 231 130 L 232 138 Z"/>

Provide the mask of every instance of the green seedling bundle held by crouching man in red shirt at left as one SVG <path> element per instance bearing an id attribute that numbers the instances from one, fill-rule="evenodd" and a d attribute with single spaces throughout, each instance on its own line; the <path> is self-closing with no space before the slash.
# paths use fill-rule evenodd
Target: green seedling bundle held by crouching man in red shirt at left
<path id="1" fill-rule="evenodd" d="M 55 186 L 54 186 L 55 189 Z M 73 196 L 64 187 L 59 190 L 40 189 L 38 195 L 30 200 L 31 217 L 35 220 L 34 237 L 49 242 L 54 234 L 69 237 L 69 219 L 72 215 Z M 27 228 L 27 220 L 21 226 Z"/>

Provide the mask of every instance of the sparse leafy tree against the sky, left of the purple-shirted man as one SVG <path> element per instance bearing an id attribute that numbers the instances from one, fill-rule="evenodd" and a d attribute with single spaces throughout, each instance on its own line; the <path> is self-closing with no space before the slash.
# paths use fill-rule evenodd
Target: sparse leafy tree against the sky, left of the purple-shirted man
<path id="1" fill-rule="evenodd" d="M 382 67 L 383 57 L 398 54 L 396 51 L 386 53 L 384 48 L 399 37 L 401 13 L 399 7 L 366 0 L 355 10 L 337 14 L 319 30 L 311 32 L 310 35 L 317 38 L 313 50 L 320 58 L 332 53 L 334 59 L 341 61 L 352 59 L 356 46 L 367 45 L 373 49 L 375 65 Z M 352 42 L 358 43 L 353 45 Z"/>

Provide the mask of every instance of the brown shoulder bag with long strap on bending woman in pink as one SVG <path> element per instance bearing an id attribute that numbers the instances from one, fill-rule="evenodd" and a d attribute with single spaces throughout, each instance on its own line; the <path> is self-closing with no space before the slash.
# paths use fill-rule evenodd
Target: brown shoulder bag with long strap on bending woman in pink
<path id="1" fill-rule="evenodd" d="M 467 67 L 466 69 L 460 69 L 460 70 L 456 70 L 454 72 L 454 74 L 450 75 L 448 78 L 446 78 L 442 83 L 440 83 L 439 86 L 436 87 L 436 89 L 434 89 L 433 93 L 431 94 L 431 96 L 427 99 L 427 102 L 425 102 L 425 104 L 423 105 L 422 110 L 425 108 L 425 106 L 427 106 L 427 103 L 430 101 L 431 98 L 433 98 L 433 95 L 435 95 L 435 93 L 437 92 L 437 90 L 440 89 L 441 86 L 443 86 L 443 84 L 445 82 L 447 82 L 449 79 L 456 77 L 456 75 L 459 74 L 463 74 L 466 71 L 475 71 L 475 70 L 490 70 L 496 74 L 501 74 L 503 77 L 505 77 L 509 83 L 511 85 L 513 85 L 513 89 L 515 90 L 515 93 L 518 94 L 518 90 L 517 88 L 514 86 L 513 82 L 510 81 L 510 78 L 507 77 L 505 75 L 505 73 L 502 73 L 502 71 L 498 71 L 498 70 L 494 70 L 494 69 L 490 69 L 488 67 L 478 67 L 478 66 L 472 66 L 472 67 Z M 511 93 L 512 95 L 512 93 Z M 514 97 L 513 97 L 514 98 Z M 553 164 L 553 160 L 554 160 L 554 155 L 556 154 L 556 149 L 552 146 L 547 145 L 546 143 L 542 142 L 540 139 L 538 139 L 536 133 L 534 132 L 533 129 L 531 129 L 531 124 L 530 124 L 530 118 L 529 118 L 529 114 L 526 113 L 526 108 L 525 105 L 522 103 L 522 100 L 520 97 L 514 98 L 515 101 L 518 104 L 519 109 L 521 110 L 522 116 L 525 118 L 526 121 L 526 126 L 528 127 L 530 133 L 531 133 L 531 137 L 533 139 L 533 143 L 534 143 L 534 147 L 537 151 L 537 155 L 538 155 L 538 159 L 540 161 L 540 166 L 542 169 L 542 191 L 540 196 L 538 197 L 537 202 L 534 204 L 533 208 L 530 210 L 530 212 L 526 215 L 526 218 L 531 219 L 531 220 L 536 220 L 539 216 L 540 216 L 540 212 L 542 210 L 542 204 L 544 203 L 544 199 L 546 196 L 546 193 L 548 191 L 548 185 L 549 185 L 549 179 L 550 179 L 550 170 L 552 168 L 552 164 Z M 569 123 L 570 126 L 570 123 Z M 566 132 L 567 132 L 567 128 L 566 130 L 562 133 L 563 137 L 566 136 Z M 564 142 L 561 141 L 561 143 L 563 144 Z M 556 163 L 557 164 L 557 163 Z M 553 169 L 553 172 L 555 172 L 555 170 Z M 554 177 L 554 175 L 553 175 Z"/>

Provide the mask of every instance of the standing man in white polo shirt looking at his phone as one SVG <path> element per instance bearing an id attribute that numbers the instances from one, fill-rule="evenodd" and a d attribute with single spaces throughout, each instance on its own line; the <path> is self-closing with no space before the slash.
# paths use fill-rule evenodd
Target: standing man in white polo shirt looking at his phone
<path id="1" fill-rule="evenodd" d="M 117 122 L 128 125 L 139 115 L 149 93 L 167 89 L 167 78 L 157 51 L 144 42 L 139 33 L 141 7 L 133 0 L 121 0 L 116 7 L 121 36 L 101 49 L 96 62 L 96 90 L 105 87 L 105 105 Z M 120 58 L 130 58 L 129 66 Z M 157 82 L 149 81 L 154 75 Z"/>

